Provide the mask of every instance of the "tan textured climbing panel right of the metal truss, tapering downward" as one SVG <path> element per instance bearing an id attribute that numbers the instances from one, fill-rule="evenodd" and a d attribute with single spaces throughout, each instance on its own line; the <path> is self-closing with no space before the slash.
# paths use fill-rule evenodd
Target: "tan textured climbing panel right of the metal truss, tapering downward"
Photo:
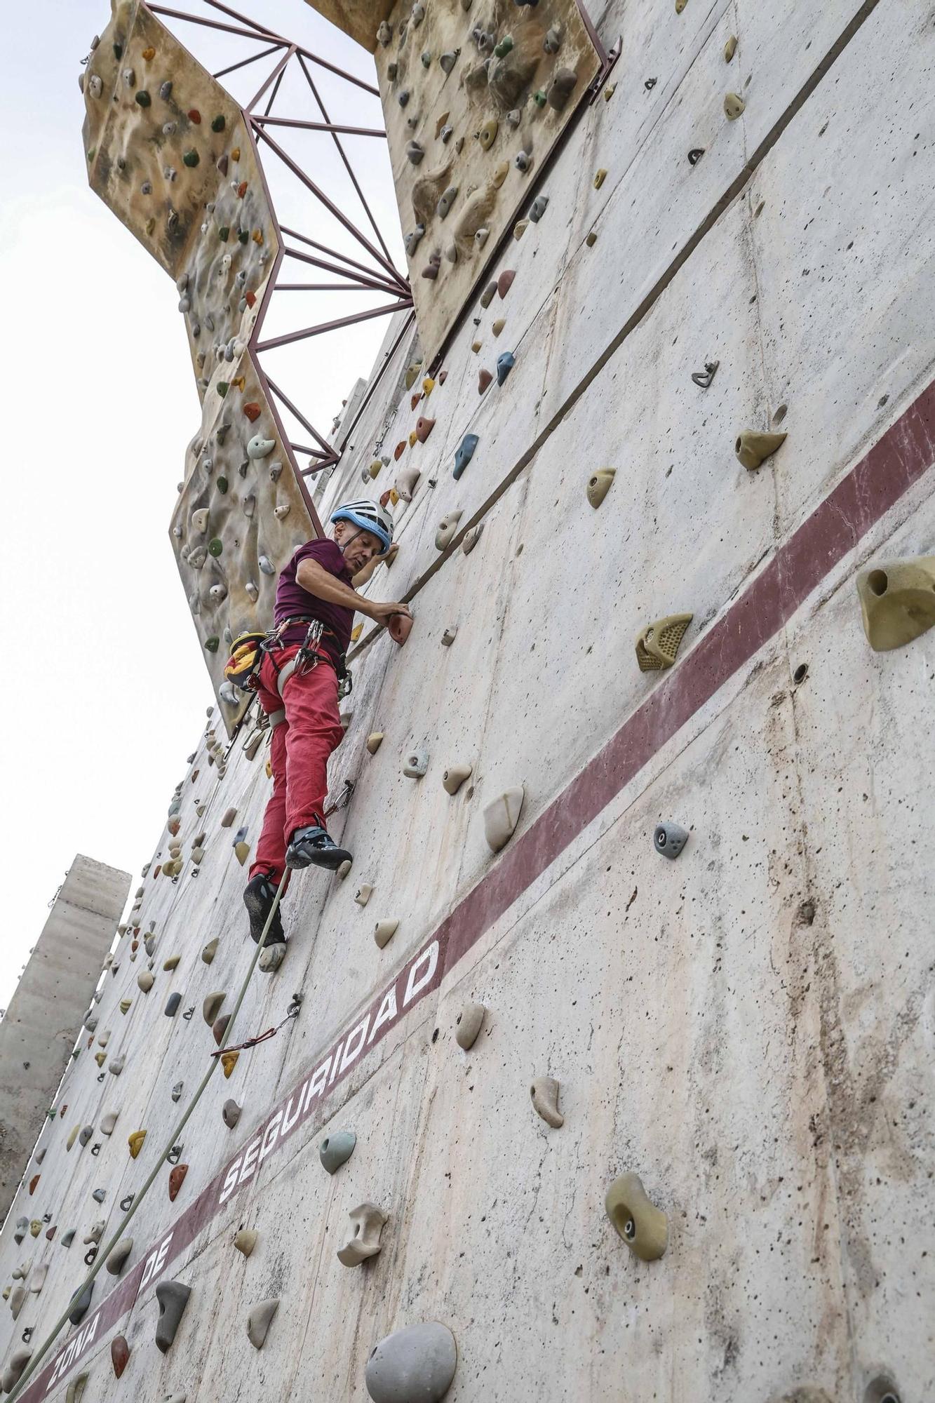
<path id="1" fill-rule="evenodd" d="M 574 0 L 397 0 L 376 69 L 427 361 L 601 67 Z M 535 216 L 533 216 L 535 217 Z"/>

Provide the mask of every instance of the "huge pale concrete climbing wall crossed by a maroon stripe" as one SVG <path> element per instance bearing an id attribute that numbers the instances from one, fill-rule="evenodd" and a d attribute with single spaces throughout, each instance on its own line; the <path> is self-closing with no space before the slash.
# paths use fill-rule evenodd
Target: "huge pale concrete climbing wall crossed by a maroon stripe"
<path id="1" fill-rule="evenodd" d="M 599 28 L 542 217 L 319 488 L 393 505 L 414 624 L 278 971 L 268 732 L 167 793 L 0 1233 L 6 1381 L 73 1316 L 29 1403 L 935 1393 L 935 28 Z"/>

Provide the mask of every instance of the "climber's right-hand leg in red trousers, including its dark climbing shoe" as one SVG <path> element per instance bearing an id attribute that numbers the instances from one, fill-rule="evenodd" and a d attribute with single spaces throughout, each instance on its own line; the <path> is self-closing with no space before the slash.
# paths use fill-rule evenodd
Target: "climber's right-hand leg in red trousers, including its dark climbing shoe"
<path id="1" fill-rule="evenodd" d="M 289 867 L 329 867 L 334 871 L 351 854 L 337 847 L 324 825 L 329 756 L 344 738 L 338 714 L 334 668 L 319 662 L 295 672 L 285 683 L 289 720 L 286 745 L 286 824 Z"/>

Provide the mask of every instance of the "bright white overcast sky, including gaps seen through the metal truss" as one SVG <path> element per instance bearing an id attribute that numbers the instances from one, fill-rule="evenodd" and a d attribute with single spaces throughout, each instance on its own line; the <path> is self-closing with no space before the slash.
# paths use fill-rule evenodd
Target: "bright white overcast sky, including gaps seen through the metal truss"
<path id="1" fill-rule="evenodd" d="M 250 11 L 250 3 L 232 4 Z M 212 14 L 199 0 L 171 7 Z M 375 81 L 372 56 L 303 0 L 253 0 L 253 13 Z M 108 0 L 34 0 L 4 18 L 0 598 L 8 704 L 0 1009 L 76 853 L 129 871 L 131 895 L 136 890 L 213 700 L 168 539 L 185 446 L 199 424 L 178 295 L 84 174 L 77 79 L 108 17 Z M 264 46 L 166 22 L 212 70 Z M 14 62 L 14 55 L 31 58 Z M 222 81 L 247 101 L 271 62 Z M 375 98 L 316 72 L 333 121 L 382 126 Z M 319 116 L 300 76 L 293 87 L 289 81 L 274 112 Z M 364 223 L 329 136 L 298 133 L 281 145 Z M 393 261 L 404 269 L 386 143 L 348 137 L 345 145 Z M 281 223 L 359 254 L 275 159 L 265 168 Z M 299 264 L 289 274 L 289 281 L 323 281 Z M 264 334 L 386 300 L 368 297 L 278 293 Z M 376 318 L 270 352 L 264 365 L 327 436 L 341 400 L 369 373 L 385 330 Z"/>

